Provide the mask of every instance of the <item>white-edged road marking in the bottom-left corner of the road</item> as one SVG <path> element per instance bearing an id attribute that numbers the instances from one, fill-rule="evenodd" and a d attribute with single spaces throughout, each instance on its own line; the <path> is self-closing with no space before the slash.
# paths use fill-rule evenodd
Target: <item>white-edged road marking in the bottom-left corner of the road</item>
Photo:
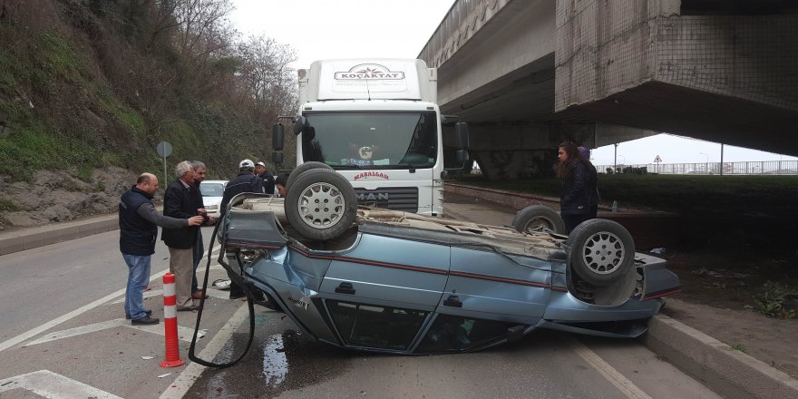
<path id="1" fill-rule="evenodd" d="M 39 370 L 26 375 L 0 380 L 0 394 L 13 389 L 24 389 L 49 399 L 72 399 L 91 397 L 97 399 L 122 399 L 109 394 L 92 385 L 83 384 L 72 378 L 53 373 L 50 370 Z"/>

